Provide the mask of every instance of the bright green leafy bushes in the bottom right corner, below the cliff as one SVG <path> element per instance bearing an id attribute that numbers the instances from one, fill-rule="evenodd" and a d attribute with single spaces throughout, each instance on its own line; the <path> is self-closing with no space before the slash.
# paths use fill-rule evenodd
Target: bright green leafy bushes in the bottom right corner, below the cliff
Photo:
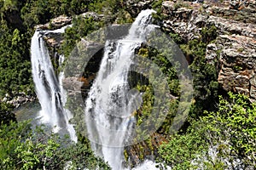
<path id="1" fill-rule="evenodd" d="M 191 123 L 184 134 L 162 144 L 160 162 L 173 169 L 224 169 L 241 160 L 242 169 L 256 167 L 256 105 L 241 94 L 219 97 L 218 110 Z M 211 154 L 214 150 L 217 154 Z M 236 162 L 237 161 L 237 162 Z M 239 163 L 239 162 L 238 162 Z"/>

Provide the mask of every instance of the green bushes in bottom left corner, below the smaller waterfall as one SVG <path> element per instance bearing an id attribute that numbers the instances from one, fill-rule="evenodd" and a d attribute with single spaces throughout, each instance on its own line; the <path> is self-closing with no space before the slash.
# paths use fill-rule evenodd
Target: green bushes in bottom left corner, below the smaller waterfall
<path id="1" fill-rule="evenodd" d="M 46 127 L 32 130 L 29 122 L 0 127 L 1 169 L 109 169 L 90 150 L 90 143 L 73 144 Z"/>

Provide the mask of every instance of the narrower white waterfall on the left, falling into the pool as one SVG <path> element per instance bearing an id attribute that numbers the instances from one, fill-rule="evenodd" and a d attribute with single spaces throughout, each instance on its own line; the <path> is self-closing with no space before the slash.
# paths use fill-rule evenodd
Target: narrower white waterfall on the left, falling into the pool
<path id="1" fill-rule="evenodd" d="M 55 76 L 54 67 L 49 58 L 49 51 L 45 46 L 43 38 L 44 34 L 49 32 L 62 33 L 66 27 L 55 31 L 35 31 L 31 45 L 32 77 L 36 94 L 42 107 L 40 111 L 42 122 L 55 127 L 55 132 L 60 130 L 68 132 L 71 139 L 77 141 L 73 126 L 68 123 L 68 120 L 72 116 L 64 108 L 66 94 L 61 86 L 61 80 L 64 74 L 61 72 L 59 77 Z M 63 59 L 63 56 L 61 56 L 61 59 Z"/>

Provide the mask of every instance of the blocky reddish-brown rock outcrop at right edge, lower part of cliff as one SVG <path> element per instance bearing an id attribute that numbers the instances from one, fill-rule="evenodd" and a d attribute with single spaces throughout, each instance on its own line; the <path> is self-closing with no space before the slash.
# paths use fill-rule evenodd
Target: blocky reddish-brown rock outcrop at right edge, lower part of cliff
<path id="1" fill-rule="evenodd" d="M 253 81 L 256 69 L 255 37 L 220 35 L 217 43 L 221 49 L 218 82 L 226 91 L 247 94 L 256 99 L 253 92 L 256 85 Z"/>

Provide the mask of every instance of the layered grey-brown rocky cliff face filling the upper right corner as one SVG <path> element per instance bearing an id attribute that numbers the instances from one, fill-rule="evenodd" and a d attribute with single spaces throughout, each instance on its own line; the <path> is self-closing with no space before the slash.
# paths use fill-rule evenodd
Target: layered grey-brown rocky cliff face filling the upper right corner
<path id="1" fill-rule="evenodd" d="M 185 42 L 201 36 L 206 26 L 217 28 L 217 38 L 207 45 L 206 58 L 218 65 L 218 82 L 225 91 L 255 95 L 256 9 L 250 1 L 241 10 L 224 3 L 184 3 L 177 8 L 171 1 L 163 2 L 165 19 L 162 29 L 180 35 Z"/>

